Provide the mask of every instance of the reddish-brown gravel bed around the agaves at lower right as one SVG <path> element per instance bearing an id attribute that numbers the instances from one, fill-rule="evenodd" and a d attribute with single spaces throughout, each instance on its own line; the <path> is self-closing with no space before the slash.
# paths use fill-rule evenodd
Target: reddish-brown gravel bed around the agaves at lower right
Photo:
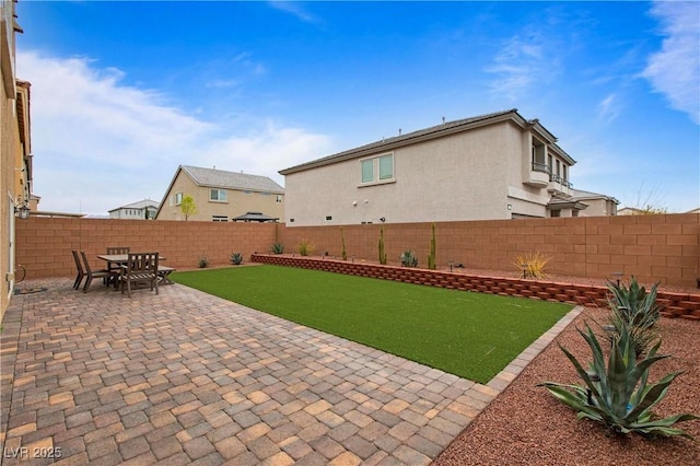
<path id="1" fill-rule="evenodd" d="M 604 424 L 578 421 L 575 411 L 556 400 L 544 381 L 581 383 L 559 349 L 559 342 L 582 363 L 591 351 L 576 333 L 607 311 L 587 308 L 559 335 L 513 383 L 479 415 L 433 463 L 447 465 L 693 465 L 700 464 L 700 443 L 684 438 L 645 439 L 617 436 Z M 660 353 L 672 354 L 652 365 L 650 382 L 669 372 L 686 371 L 670 385 L 656 407 L 666 417 L 680 412 L 700 415 L 700 323 L 662 318 Z M 593 325 L 592 325 L 593 326 Z M 677 427 L 700 440 L 700 420 Z"/>

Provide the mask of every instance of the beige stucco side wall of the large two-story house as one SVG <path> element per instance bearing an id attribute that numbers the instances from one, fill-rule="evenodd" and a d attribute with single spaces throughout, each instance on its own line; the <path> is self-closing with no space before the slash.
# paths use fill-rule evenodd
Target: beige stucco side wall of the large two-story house
<path id="1" fill-rule="evenodd" d="M 495 220 L 514 212 L 546 217 L 547 189 L 523 185 L 529 144 L 526 133 L 505 121 L 394 150 L 394 183 L 361 186 L 360 159 L 292 173 L 284 182 L 285 222 Z"/>

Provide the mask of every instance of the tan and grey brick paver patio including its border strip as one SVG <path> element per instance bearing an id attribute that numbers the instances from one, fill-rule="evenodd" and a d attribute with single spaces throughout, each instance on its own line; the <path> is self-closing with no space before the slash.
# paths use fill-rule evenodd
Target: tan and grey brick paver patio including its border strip
<path id="1" fill-rule="evenodd" d="M 71 284 L 2 322 L 2 466 L 430 464 L 580 312 L 481 385 L 179 284 Z"/>

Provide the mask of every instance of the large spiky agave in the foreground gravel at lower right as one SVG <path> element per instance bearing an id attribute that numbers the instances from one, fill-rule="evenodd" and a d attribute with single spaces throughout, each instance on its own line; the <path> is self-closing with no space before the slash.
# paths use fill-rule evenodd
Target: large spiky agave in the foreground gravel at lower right
<path id="1" fill-rule="evenodd" d="M 670 383 L 681 374 L 673 372 L 653 384 L 649 382 L 649 368 L 668 356 L 656 354 L 661 339 L 656 341 L 646 357 L 638 361 L 633 339 L 628 327 L 623 327 L 611 345 L 607 366 L 600 345 L 593 330 L 576 330 L 586 340 L 593 352 L 590 371 L 561 345 L 561 350 L 576 369 L 585 385 L 567 385 L 544 382 L 545 386 L 559 400 L 578 411 L 576 418 L 599 421 L 617 433 L 637 432 L 641 434 L 682 435 L 692 439 L 687 432 L 673 427 L 676 422 L 700 419 L 695 415 L 675 415 L 656 419 L 652 408 L 666 396 Z M 695 439 L 693 439 L 695 440 Z"/>

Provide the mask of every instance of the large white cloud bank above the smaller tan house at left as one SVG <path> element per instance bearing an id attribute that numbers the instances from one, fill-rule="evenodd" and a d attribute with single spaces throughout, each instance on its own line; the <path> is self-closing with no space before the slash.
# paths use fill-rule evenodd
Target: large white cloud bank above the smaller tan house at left
<path id="1" fill-rule="evenodd" d="M 164 95 L 121 83 L 124 73 L 86 58 L 19 51 L 30 81 L 34 194 L 40 210 L 106 213 L 161 200 L 179 164 L 269 176 L 329 153 L 330 139 L 273 118 L 208 123 Z"/>

